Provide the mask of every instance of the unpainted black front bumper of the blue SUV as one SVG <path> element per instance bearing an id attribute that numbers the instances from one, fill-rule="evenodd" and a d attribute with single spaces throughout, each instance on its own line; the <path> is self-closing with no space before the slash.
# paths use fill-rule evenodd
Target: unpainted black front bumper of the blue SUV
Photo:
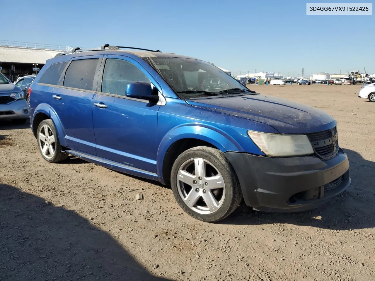
<path id="1" fill-rule="evenodd" d="M 246 205 L 259 211 L 313 209 L 350 185 L 349 161 L 340 148 L 329 160 L 315 156 L 269 158 L 225 152 L 239 179 Z"/>

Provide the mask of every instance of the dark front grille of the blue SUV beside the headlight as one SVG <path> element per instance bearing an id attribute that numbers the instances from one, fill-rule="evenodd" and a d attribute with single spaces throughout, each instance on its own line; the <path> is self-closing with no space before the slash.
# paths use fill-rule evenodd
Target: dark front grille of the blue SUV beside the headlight
<path id="1" fill-rule="evenodd" d="M 337 129 L 336 127 L 318 133 L 311 133 L 307 135 L 315 155 L 322 159 L 332 158 L 339 151 Z"/>

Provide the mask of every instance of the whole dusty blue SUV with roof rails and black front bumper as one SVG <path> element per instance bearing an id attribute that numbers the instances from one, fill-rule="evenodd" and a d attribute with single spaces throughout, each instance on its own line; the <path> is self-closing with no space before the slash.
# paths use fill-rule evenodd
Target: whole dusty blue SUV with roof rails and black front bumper
<path id="1" fill-rule="evenodd" d="M 171 185 L 202 221 L 239 206 L 301 211 L 351 182 L 336 121 L 251 91 L 202 60 L 104 45 L 48 60 L 29 90 L 42 157 L 68 154 Z M 225 89 L 205 87 L 218 79 Z"/>

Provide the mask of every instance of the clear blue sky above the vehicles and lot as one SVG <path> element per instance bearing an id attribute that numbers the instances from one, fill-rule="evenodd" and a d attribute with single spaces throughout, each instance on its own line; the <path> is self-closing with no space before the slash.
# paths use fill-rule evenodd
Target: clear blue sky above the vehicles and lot
<path id="1" fill-rule="evenodd" d="M 306 1 L 3 0 L 0 6 L 0 40 L 160 49 L 234 75 L 256 69 L 296 76 L 302 67 L 305 75 L 363 72 L 365 66 L 375 73 L 374 15 L 308 16 Z"/>

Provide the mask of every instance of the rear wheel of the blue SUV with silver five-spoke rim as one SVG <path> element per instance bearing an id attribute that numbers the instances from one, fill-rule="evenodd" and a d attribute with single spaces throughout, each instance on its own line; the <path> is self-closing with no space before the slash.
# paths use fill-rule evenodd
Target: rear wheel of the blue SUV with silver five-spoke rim
<path id="1" fill-rule="evenodd" d="M 68 157 L 67 153 L 61 151 L 57 131 L 51 119 L 40 122 L 36 139 L 40 154 L 49 163 L 57 163 Z"/>

